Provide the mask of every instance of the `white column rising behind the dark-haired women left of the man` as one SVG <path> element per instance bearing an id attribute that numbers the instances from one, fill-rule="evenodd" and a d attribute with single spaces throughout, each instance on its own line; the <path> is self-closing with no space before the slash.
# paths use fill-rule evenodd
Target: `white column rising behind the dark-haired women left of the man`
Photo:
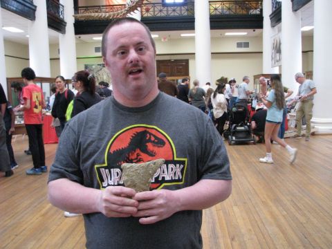
<path id="1" fill-rule="evenodd" d="M 64 1 L 64 21 L 66 21 L 66 33 L 59 34 L 60 50 L 60 75 L 65 79 L 71 79 L 77 72 L 76 43 L 74 30 L 74 4 L 73 1 Z"/>

